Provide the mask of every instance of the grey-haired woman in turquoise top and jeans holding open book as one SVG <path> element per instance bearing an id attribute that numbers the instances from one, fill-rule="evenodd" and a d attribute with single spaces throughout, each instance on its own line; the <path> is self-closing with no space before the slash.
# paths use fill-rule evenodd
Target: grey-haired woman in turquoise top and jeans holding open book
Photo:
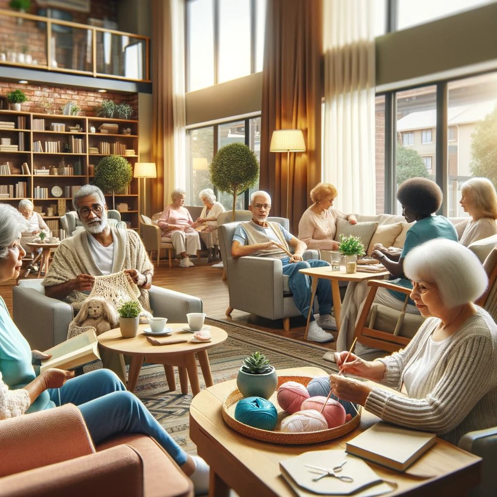
<path id="1" fill-rule="evenodd" d="M 26 229 L 16 209 L 0 205 L 0 283 L 19 275 L 25 255 L 20 238 Z M 0 419 L 75 404 L 95 444 L 119 433 L 149 435 L 190 477 L 195 491 L 207 493 L 204 460 L 186 454 L 112 371 L 98 369 L 74 378 L 73 371 L 47 369 L 36 375 L 32 359 L 49 357 L 31 350 L 0 297 Z"/>

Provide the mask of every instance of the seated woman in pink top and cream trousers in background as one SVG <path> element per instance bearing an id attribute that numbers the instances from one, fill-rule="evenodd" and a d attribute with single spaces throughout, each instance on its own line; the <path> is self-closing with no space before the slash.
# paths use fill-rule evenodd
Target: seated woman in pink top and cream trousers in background
<path id="1" fill-rule="evenodd" d="M 200 250 L 200 237 L 193 229 L 193 219 L 184 206 L 186 192 L 176 188 L 171 193 L 171 203 L 164 209 L 157 225 L 162 230 L 162 236 L 171 239 L 172 246 L 181 256 L 179 267 L 193 266 L 190 255 Z"/>

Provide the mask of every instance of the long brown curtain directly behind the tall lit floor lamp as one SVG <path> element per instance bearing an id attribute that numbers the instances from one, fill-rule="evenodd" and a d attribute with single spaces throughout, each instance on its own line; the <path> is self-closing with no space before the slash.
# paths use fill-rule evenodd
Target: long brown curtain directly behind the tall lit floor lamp
<path id="1" fill-rule="evenodd" d="M 289 181 L 290 229 L 298 235 L 299 221 L 310 204 L 309 192 L 321 181 L 321 61 L 322 0 L 267 2 L 260 180 L 272 198 L 273 216 L 286 215 Z M 276 129 L 301 129 L 306 152 L 269 152 Z"/>

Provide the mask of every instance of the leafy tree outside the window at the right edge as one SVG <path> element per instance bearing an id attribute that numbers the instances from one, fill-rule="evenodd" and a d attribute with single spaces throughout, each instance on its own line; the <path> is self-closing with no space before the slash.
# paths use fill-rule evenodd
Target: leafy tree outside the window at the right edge
<path id="1" fill-rule="evenodd" d="M 497 106 L 475 124 L 471 133 L 471 162 L 473 176 L 489 178 L 497 188 Z"/>

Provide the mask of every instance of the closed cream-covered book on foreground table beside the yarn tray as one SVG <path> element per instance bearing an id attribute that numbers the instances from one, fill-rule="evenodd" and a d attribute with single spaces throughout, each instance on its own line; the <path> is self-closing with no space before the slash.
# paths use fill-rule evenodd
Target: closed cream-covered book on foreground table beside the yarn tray
<path id="1" fill-rule="evenodd" d="M 346 451 L 397 471 L 405 471 L 435 443 L 436 435 L 378 422 L 346 443 Z"/>

